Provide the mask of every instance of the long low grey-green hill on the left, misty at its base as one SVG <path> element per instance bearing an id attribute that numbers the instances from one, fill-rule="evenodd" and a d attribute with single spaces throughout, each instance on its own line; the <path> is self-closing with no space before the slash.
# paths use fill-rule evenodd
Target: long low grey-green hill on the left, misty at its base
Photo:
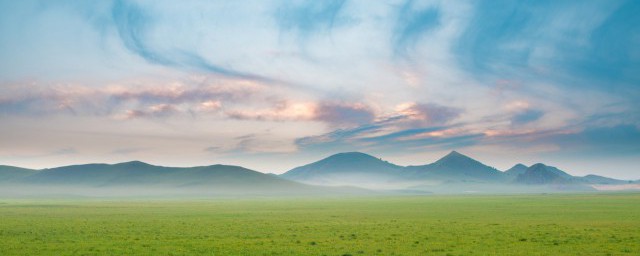
<path id="1" fill-rule="evenodd" d="M 85 164 L 44 169 L 21 179 L 29 184 L 158 187 L 265 187 L 302 186 L 239 166 L 163 167 L 140 161 Z"/>

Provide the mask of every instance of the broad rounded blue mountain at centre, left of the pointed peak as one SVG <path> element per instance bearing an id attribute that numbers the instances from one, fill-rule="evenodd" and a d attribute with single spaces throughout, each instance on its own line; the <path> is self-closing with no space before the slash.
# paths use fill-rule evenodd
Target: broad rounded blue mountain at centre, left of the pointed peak
<path id="1" fill-rule="evenodd" d="M 348 152 L 291 169 L 281 177 L 309 184 L 371 187 L 400 179 L 402 170 L 371 155 Z"/>

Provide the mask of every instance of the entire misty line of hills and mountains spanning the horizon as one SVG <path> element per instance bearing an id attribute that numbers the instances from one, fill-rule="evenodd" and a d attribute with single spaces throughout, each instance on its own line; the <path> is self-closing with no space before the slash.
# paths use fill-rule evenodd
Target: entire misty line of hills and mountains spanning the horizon
<path id="1" fill-rule="evenodd" d="M 283 174 L 257 172 L 239 165 L 165 167 L 138 160 L 88 163 L 32 170 L 0 165 L 0 183 L 63 186 L 291 187 L 351 186 L 383 190 L 430 191 L 443 187 L 491 190 L 491 186 L 623 185 L 635 181 L 599 175 L 572 176 L 556 167 L 515 164 L 502 172 L 451 151 L 433 163 L 400 166 L 363 152 L 341 152 Z"/>

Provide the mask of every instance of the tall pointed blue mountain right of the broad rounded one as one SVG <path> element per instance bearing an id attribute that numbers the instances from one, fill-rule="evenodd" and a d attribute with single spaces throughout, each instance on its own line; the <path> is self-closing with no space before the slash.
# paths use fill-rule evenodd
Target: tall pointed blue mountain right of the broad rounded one
<path id="1" fill-rule="evenodd" d="M 502 182 L 505 180 L 505 175 L 501 171 L 456 151 L 451 151 L 432 164 L 408 166 L 407 170 L 415 178 L 440 179 L 447 182 Z"/>

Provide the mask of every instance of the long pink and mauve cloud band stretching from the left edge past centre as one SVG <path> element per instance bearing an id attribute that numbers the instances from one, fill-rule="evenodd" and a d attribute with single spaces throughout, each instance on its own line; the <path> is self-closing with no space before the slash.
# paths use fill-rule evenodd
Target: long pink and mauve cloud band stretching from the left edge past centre
<path id="1" fill-rule="evenodd" d="M 0 115 L 101 116 L 117 120 L 217 116 L 221 119 L 321 122 L 351 127 L 376 118 L 371 106 L 322 99 L 294 101 L 288 91 L 246 80 L 147 81 L 94 88 L 16 84 L 0 97 Z M 293 92 L 295 95 L 295 92 Z M 308 96 L 307 96 L 308 97 Z"/>

